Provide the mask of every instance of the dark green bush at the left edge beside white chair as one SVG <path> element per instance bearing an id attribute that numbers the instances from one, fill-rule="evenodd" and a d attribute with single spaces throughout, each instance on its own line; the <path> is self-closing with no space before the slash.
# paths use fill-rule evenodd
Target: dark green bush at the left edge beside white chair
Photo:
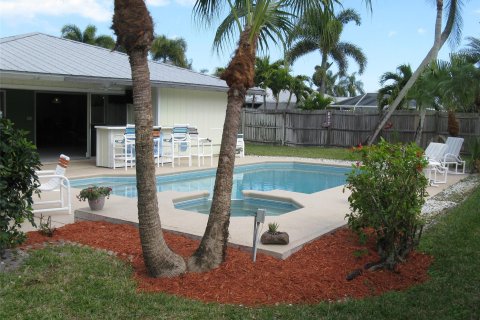
<path id="1" fill-rule="evenodd" d="M 8 119 L 0 119 L 0 253 L 25 240 L 20 224 L 33 221 L 33 193 L 40 185 L 36 147 Z"/>

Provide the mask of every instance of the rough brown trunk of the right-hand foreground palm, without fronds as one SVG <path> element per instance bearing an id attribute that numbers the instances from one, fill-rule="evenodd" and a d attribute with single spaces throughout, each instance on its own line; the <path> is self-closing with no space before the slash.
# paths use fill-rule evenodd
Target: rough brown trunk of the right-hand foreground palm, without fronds
<path id="1" fill-rule="evenodd" d="M 200 246 L 187 262 L 188 270 L 193 272 L 217 268 L 226 256 L 237 134 L 240 129 L 245 94 L 248 88 L 253 86 L 255 75 L 255 51 L 258 37 L 254 37 L 250 42 L 249 36 L 250 30 L 245 29 L 240 35 L 235 56 L 222 75 L 222 79 L 229 87 L 227 111 L 207 227 Z"/>

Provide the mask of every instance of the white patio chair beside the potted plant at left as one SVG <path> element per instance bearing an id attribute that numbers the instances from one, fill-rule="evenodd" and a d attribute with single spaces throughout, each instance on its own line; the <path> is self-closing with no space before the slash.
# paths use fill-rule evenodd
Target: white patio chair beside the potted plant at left
<path id="1" fill-rule="evenodd" d="M 65 176 L 65 171 L 70 163 L 70 158 L 61 154 L 55 170 L 36 171 L 40 181 L 38 189 L 41 194 L 52 192 L 59 193 L 58 200 L 35 201 L 34 205 L 41 205 L 42 208 L 34 209 L 33 212 L 68 211 L 72 214 L 72 201 L 70 196 L 70 181 Z M 53 205 L 53 206 L 51 206 Z"/>

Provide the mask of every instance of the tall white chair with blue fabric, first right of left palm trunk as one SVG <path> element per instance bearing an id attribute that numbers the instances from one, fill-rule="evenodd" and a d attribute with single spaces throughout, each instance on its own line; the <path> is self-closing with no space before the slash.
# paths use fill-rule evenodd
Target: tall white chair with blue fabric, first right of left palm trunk
<path id="1" fill-rule="evenodd" d="M 170 138 L 163 139 L 165 147 L 162 150 L 162 166 L 164 159 L 168 157 L 172 159 L 172 168 L 175 167 L 175 159 L 178 159 L 180 165 L 181 158 L 187 158 L 188 166 L 192 166 L 192 149 L 188 127 L 188 124 L 175 124 Z"/>

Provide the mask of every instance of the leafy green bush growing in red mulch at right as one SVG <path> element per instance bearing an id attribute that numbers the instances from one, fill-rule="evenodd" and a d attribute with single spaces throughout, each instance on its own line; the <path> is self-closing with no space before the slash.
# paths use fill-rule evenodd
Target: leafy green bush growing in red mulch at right
<path id="1" fill-rule="evenodd" d="M 427 195 L 427 165 L 423 150 L 414 143 L 358 147 L 362 162 L 348 174 L 346 188 L 351 212 L 348 225 L 361 238 L 373 230 L 379 266 L 394 269 L 420 240 L 423 221 L 420 217 Z"/>

